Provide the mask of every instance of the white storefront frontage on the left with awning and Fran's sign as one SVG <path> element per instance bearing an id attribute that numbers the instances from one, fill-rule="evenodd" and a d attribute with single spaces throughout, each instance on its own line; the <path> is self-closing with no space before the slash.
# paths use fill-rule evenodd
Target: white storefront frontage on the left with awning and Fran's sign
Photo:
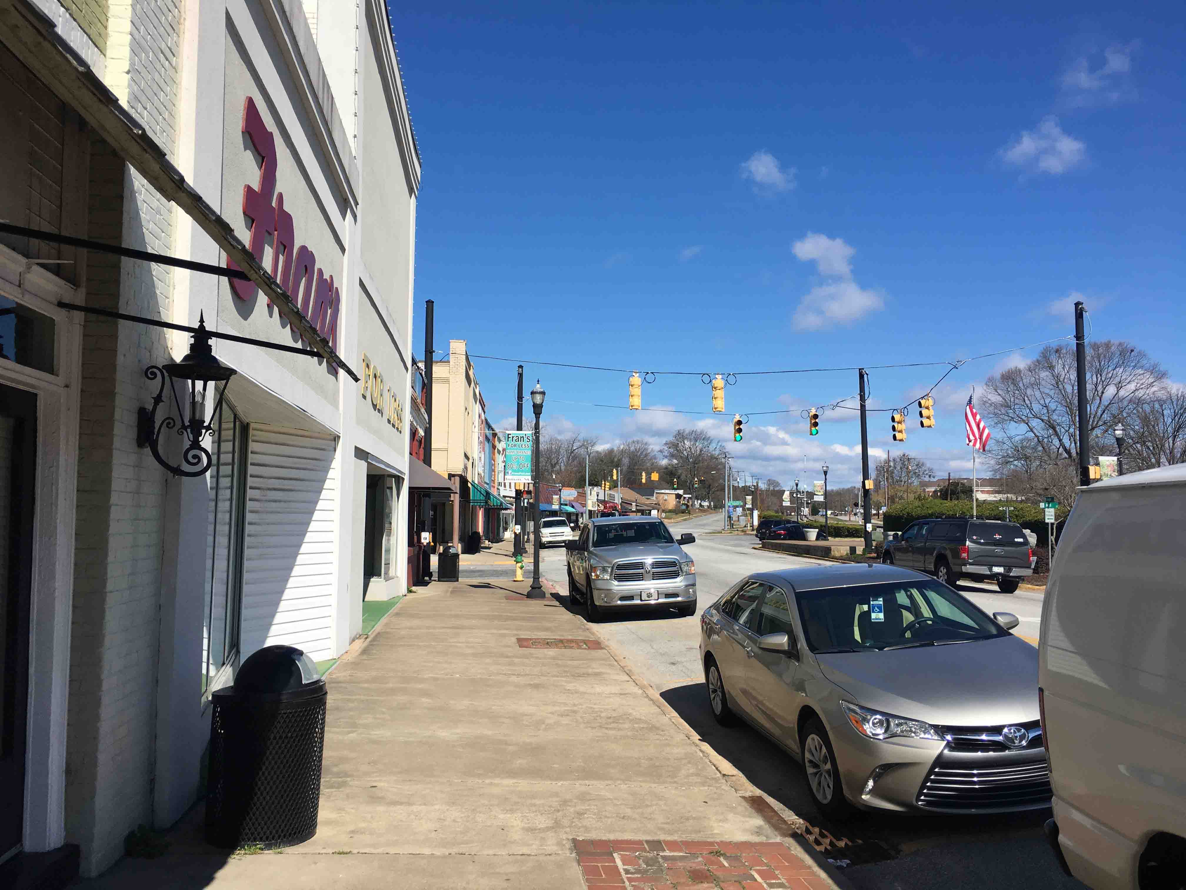
<path id="1" fill-rule="evenodd" d="M 0 78 L 0 220 L 50 239 L 0 231 L 0 663 L 20 703 L 0 869 L 59 851 L 96 875 L 199 800 L 210 694 L 246 657 L 327 665 L 364 598 L 407 587 L 420 158 L 378 0 L 12 0 Z M 212 466 L 186 478 L 139 412 L 146 369 L 190 344 L 154 323 L 199 319 L 289 351 L 213 341 L 237 373 L 217 412 L 208 395 Z"/>

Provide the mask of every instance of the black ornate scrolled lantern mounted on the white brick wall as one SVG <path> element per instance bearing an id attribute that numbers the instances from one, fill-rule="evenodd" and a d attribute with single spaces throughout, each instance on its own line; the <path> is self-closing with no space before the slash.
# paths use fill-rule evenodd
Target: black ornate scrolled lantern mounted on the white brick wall
<path id="1" fill-rule="evenodd" d="M 227 394 L 227 383 L 236 374 L 234 368 L 215 358 L 210 349 L 210 335 L 206 332 L 205 317 L 199 317 L 198 330 L 190 342 L 190 351 L 180 362 L 165 365 L 151 365 L 145 370 L 148 380 L 160 380 L 160 388 L 152 400 L 152 408 L 140 408 L 140 426 L 136 433 L 136 445 L 147 446 L 157 463 L 164 466 L 174 476 L 204 476 L 213 464 L 210 450 L 203 445 L 203 440 L 209 436 L 213 439 L 215 419 L 219 417 L 223 396 Z M 178 393 L 178 381 L 181 383 L 181 393 Z M 165 401 L 165 383 L 168 383 L 173 393 L 173 403 L 177 407 L 177 417 L 172 413 L 165 415 L 159 422 L 157 409 Z M 215 408 L 210 413 L 210 421 L 206 421 L 206 389 L 215 383 L 222 383 L 218 390 L 218 399 Z M 177 430 L 177 434 L 185 437 L 185 447 L 181 451 L 181 464 L 168 463 L 160 453 L 160 437 L 166 430 Z"/>

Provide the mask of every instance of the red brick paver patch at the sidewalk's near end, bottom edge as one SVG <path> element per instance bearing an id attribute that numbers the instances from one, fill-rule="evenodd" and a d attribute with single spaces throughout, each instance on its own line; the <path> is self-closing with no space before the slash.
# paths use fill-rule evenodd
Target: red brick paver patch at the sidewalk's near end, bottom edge
<path id="1" fill-rule="evenodd" d="M 833 890 L 777 841 L 573 839 L 588 888 Z"/>

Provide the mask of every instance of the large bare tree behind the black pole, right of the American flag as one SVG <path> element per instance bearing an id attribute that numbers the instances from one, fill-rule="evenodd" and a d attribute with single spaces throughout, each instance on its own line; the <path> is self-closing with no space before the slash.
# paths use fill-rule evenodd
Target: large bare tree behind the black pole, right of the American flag
<path id="1" fill-rule="evenodd" d="M 1166 396 L 1166 371 L 1123 341 L 1088 344 L 1088 451 L 1108 451 L 1111 428 Z M 1022 496 L 1054 494 L 1071 503 L 1078 476 L 1075 350 L 1046 347 L 1020 368 L 989 377 L 980 412 L 997 472 L 1024 482 Z"/>

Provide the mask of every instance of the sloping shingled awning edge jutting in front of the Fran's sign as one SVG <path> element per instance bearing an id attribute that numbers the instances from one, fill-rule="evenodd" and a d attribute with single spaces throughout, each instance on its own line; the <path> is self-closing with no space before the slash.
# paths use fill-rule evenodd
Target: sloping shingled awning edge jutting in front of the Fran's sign
<path id="1" fill-rule="evenodd" d="M 234 260 L 259 285 L 310 347 L 326 361 L 342 368 L 351 379 L 358 380 L 358 375 L 342 360 L 333 344 L 301 314 L 296 301 L 255 259 L 231 224 L 185 182 L 181 171 L 170 163 L 165 151 L 152 140 L 145 126 L 120 104 L 119 97 L 58 34 L 51 18 L 27 0 L 0 0 L 0 30 L 5 34 L 5 45 L 25 66 L 59 98 L 74 107 L 166 201 L 177 204 L 181 212 L 193 220 L 222 248 L 227 258 Z"/>

